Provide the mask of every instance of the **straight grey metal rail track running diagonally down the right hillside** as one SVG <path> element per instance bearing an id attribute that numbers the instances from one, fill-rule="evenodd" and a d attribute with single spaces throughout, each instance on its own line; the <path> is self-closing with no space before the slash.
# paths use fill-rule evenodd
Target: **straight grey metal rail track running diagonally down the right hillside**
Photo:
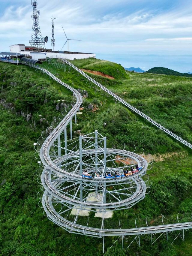
<path id="1" fill-rule="evenodd" d="M 111 92 L 110 90 L 108 90 L 106 87 L 104 87 L 103 85 L 101 85 L 100 83 L 98 83 L 97 81 L 95 81 L 93 78 L 89 77 L 87 74 L 85 74 L 83 71 L 81 71 L 79 68 L 77 68 L 75 65 L 73 65 L 71 62 L 67 61 L 66 59 L 63 58 L 57 58 L 57 59 L 61 59 L 62 61 L 64 61 L 65 63 L 67 63 L 67 65 L 69 65 L 70 67 L 72 67 L 73 69 L 75 69 L 77 72 L 79 72 L 82 76 L 84 76 L 85 78 L 87 78 L 89 81 L 91 81 L 92 83 L 94 83 L 95 85 L 97 85 L 98 87 L 100 87 L 104 92 L 107 92 L 109 95 L 113 96 L 117 101 L 121 102 L 123 105 L 125 105 L 126 107 L 128 107 L 129 109 L 131 109 L 132 111 L 134 111 L 135 113 L 137 113 L 139 116 L 142 116 L 143 118 L 145 118 L 147 121 L 149 121 L 150 123 L 152 123 L 153 125 L 155 125 L 157 128 L 161 129 L 162 131 L 164 131 L 165 133 L 169 134 L 171 137 L 173 137 L 174 139 L 178 140 L 180 143 L 184 144 L 185 146 L 189 147 L 190 149 L 192 149 L 192 145 L 187 142 L 186 140 L 183 140 L 181 137 L 177 136 L 176 134 L 174 134 L 172 131 L 169 131 L 168 129 L 166 129 L 165 127 L 163 127 L 162 125 L 158 124 L 157 122 L 155 122 L 153 119 L 151 119 L 149 116 L 145 115 L 144 113 L 142 113 L 140 110 L 138 110 L 137 108 L 131 106 L 129 103 L 127 103 L 125 100 L 123 100 L 122 98 L 120 98 L 119 96 L 117 96 L 115 93 Z"/>

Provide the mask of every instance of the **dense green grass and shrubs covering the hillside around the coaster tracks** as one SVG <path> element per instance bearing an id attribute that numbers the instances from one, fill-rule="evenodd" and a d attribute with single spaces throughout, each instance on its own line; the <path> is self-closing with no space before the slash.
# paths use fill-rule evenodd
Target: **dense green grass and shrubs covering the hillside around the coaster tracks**
<path id="1" fill-rule="evenodd" d="M 92 70 L 114 76 L 110 70 L 117 64 L 94 64 L 98 61 L 75 60 L 73 63 L 79 63 L 81 68 L 91 64 Z M 95 92 L 94 87 L 89 88 L 90 85 L 85 84 L 82 77 L 73 72 L 56 70 L 53 65 L 49 65 L 49 69 L 51 68 L 54 74 L 56 71 L 63 77 L 64 82 L 71 85 L 74 81 L 76 89 L 81 88 L 88 92 L 83 114 L 78 116 L 79 126 L 73 123 L 73 131 L 80 129 L 86 134 L 98 129 L 107 136 L 109 147 L 114 143 L 116 148 L 123 149 L 125 143 L 126 149 L 133 150 L 135 145 L 138 153 L 142 152 L 143 147 L 146 154 L 149 151 L 163 158 L 161 161 L 156 160 L 148 171 L 152 180 L 151 192 L 133 208 L 114 212 L 111 225 L 119 223 L 119 218 L 134 220 L 148 216 L 152 219 L 161 214 L 192 212 L 191 150 L 178 144 L 121 104 L 115 103 L 113 98 L 103 92 Z M 87 69 L 91 70 L 90 67 Z M 126 79 L 126 76 L 129 78 Z M 116 80 L 94 75 L 92 77 L 161 124 L 172 124 L 177 133 L 182 129 L 182 137 L 186 136 L 191 140 L 190 78 L 147 73 L 122 74 Z M 148 81 L 149 79 L 155 81 Z M 43 210 L 38 207 L 37 194 L 40 193 L 40 196 L 42 192 L 35 174 L 38 164 L 34 157 L 33 142 L 50 125 L 53 116 L 60 113 L 55 109 L 56 104 L 59 103 L 60 106 L 62 100 L 67 104 L 72 95 L 29 67 L 16 67 L 6 63 L 0 63 L 0 88 L 0 99 L 6 101 L 0 105 L 0 255 L 102 255 L 102 239 L 67 233 L 48 221 Z M 178 95 L 182 100 L 179 101 Z M 171 102 L 169 106 L 168 102 Z M 90 103 L 94 104 L 95 111 L 88 110 Z M 164 106 L 159 107 L 161 104 Z M 29 122 L 25 115 L 21 116 L 21 111 L 32 114 Z M 40 121 L 41 119 L 46 120 Z M 107 123 L 106 127 L 104 122 Z M 162 153 L 164 155 L 160 156 Z M 39 205 L 41 206 L 41 202 Z M 141 247 L 133 242 L 128 249 L 128 255 L 190 255 L 192 233 L 186 233 L 184 242 L 177 238 L 171 245 L 177 234 L 170 234 L 168 242 L 165 236 L 161 236 L 153 246 L 150 245 L 150 236 L 144 236 Z M 132 239 L 125 239 L 125 248 Z M 106 239 L 106 250 L 115 240 L 115 237 Z M 107 250 L 106 255 L 127 255 L 120 247 L 121 241 L 118 241 L 116 247 Z"/>

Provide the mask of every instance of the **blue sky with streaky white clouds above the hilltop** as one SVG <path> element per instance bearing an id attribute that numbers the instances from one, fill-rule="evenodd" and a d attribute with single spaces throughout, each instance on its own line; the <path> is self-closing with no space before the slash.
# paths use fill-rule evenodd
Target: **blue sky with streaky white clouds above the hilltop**
<path id="1" fill-rule="evenodd" d="M 0 0 L 0 51 L 29 45 L 32 32 L 30 0 Z M 42 35 L 49 37 L 55 20 L 55 50 L 71 41 L 71 51 L 96 53 L 124 67 L 154 66 L 192 72 L 191 0 L 38 0 Z M 67 50 L 67 45 L 64 48 Z"/>

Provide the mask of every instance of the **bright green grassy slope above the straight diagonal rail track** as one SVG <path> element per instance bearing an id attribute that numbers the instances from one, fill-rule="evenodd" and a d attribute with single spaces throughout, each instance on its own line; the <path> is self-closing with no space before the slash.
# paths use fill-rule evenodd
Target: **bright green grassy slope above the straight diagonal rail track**
<path id="1" fill-rule="evenodd" d="M 156 122 L 192 143 L 192 78 L 128 74 L 129 80 L 91 76 Z"/>

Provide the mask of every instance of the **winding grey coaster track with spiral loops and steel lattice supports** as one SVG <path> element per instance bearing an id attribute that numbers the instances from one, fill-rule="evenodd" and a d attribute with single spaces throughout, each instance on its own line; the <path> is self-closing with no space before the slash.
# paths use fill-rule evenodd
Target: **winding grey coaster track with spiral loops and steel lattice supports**
<path id="1" fill-rule="evenodd" d="M 151 235 L 153 244 L 158 239 L 152 239 L 153 235 L 159 233 L 160 237 L 166 234 L 168 239 L 168 234 L 177 230 L 182 230 L 184 239 L 184 230 L 192 228 L 192 214 L 169 217 L 162 215 L 152 220 L 135 219 L 134 223 L 129 219 L 111 221 L 105 218 L 106 212 L 128 209 L 145 197 L 147 186 L 143 175 L 146 176 L 147 162 L 134 152 L 107 148 L 106 138 L 97 131 L 67 140 L 67 125 L 70 124 L 71 127 L 71 120 L 82 104 L 82 95 L 46 69 L 36 65 L 30 66 L 68 88 L 74 96 L 67 113 L 62 118 L 55 119 L 44 142 L 35 143 L 40 146 L 37 151 L 41 158 L 39 162 L 43 170 L 41 182 L 44 191 L 41 202 L 46 216 L 70 233 L 103 239 L 105 236 L 119 236 L 122 240 L 126 236 L 135 236 L 133 241 L 137 241 L 138 245 L 141 236 Z M 125 164 L 128 159 L 130 163 Z M 117 161 L 123 165 L 117 165 Z M 125 166 L 135 163 L 138 163 L 141 169 L 133 175 L 109 178 L 104 175 L 105 171 L 110 171 L 112 175 L 115 171 L 122 173 Z M 101 176 L 82 176 L 84 170 L 91 174 L 96 171 Z M 74 209 L 75 213 L 72 212 Z M 80 215 L 81 211 L 100 213 L 102 217 L 89 218 Z M 176 238 L 179 235 L 181 236 L 181 232 Z"/>

